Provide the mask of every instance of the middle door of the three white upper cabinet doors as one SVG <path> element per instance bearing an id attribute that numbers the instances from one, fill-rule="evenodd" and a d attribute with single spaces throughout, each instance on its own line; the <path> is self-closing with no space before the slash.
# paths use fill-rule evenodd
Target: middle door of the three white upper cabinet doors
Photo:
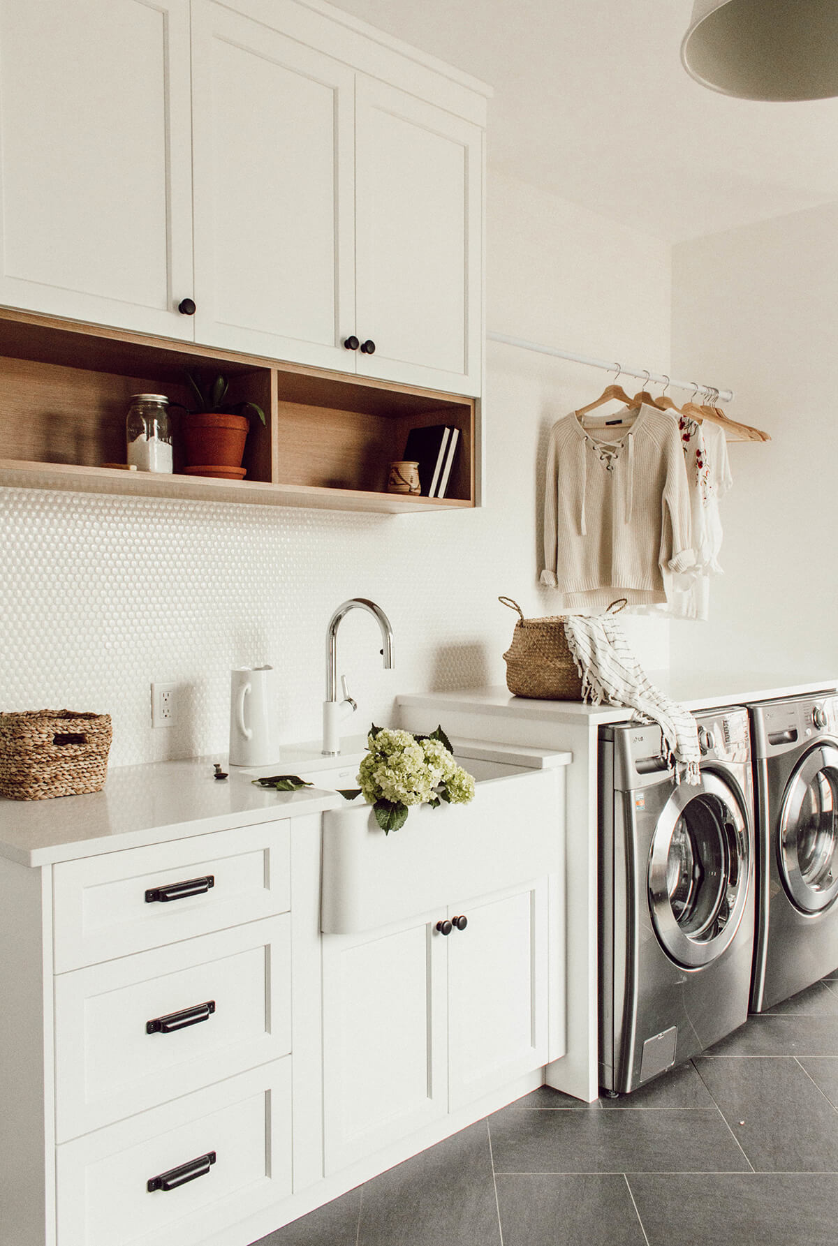
<path id="1" fill-rule="evenodd" d="M 354 371 L 354 74 L 212 0 L 193 14 L 196 339 Z"/>

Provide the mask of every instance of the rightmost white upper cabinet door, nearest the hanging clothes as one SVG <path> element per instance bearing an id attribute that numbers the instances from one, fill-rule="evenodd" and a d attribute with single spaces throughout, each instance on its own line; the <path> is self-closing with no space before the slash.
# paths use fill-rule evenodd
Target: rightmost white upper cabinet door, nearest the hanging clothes
<path id="1" fill-rule="evenodd" d="M 483 131 L 363 75 L 355 110 L 358 371 L 478 395 Z"/>

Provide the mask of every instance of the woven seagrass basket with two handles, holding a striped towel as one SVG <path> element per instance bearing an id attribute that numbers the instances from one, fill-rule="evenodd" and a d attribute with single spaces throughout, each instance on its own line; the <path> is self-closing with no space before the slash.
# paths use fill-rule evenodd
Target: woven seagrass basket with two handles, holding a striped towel
<path id="1" fill-rule="evenodd" d="M 499 597 L 499 602 L 518 611 L 520 618 L 513 632 L 513 643 L 504 654 L 506 687 L 515 697 L 536 700 L 582 700 L 582 677 L 570 652 L 565 635 L 566 614 L 526 619 L 518 602 Z M 611 602 L 607 613 L 616 614 L 626 606 L 625 597 Z M 616 609 L 615 609 L 616 607 Z"/>

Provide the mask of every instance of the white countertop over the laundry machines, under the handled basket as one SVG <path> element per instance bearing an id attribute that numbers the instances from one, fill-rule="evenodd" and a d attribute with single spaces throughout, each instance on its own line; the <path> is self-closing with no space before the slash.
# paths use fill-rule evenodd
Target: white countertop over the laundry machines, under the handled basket
<path id="1" fill-rule="evenodd" d="M 811 672 L 743 673 L 703 672 L 682 674 L 673 670 L 650 670 L 650 682 L 666 697 L 690 710 L 715 709 L 720 705 L 748 705 L 753 701 L 801 697 L 807 693 L 838 688 L 838 675 L 813 675 Z M 534 700 L 514 697 L 506 688 L 464 688 L 445 693 L 413 693 L 397 697 L 399 705 L 428 706 L 444 714 L 473 713 L 514 715 L 526 719 L 555 721 L 620 723 L 631 718 L 632 710 L 621 705 L 586 705 L 581 701 Z"/>

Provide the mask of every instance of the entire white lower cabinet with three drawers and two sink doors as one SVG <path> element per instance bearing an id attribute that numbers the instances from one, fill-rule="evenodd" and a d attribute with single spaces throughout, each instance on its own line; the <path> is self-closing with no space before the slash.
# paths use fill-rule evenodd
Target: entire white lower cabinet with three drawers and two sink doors
<path id="1" fill-rule="evenodd" d="M 247 1246 L 541 1080 L 561 876 L 323 934 L 322 807 L 0 854 L 0 1246 Z"/>

